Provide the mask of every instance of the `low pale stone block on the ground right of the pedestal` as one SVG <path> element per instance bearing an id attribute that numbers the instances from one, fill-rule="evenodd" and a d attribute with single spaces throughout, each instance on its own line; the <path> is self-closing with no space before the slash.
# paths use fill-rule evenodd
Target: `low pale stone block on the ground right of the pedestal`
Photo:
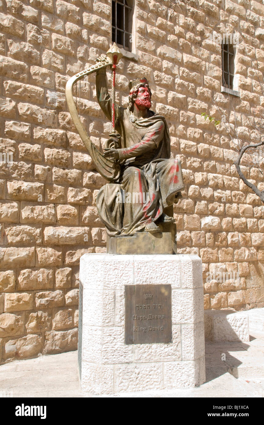
<path id="1" fill-rule="evenodd" d="M 204 334 L 213 342 L 249 341 L 248 317 L 235 310 L 206 310 Z"/>

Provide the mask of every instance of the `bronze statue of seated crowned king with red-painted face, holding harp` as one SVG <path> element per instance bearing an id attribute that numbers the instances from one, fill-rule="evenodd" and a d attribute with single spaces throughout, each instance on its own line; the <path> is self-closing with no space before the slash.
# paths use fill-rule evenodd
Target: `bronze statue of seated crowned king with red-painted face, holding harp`
<path id="1" fill-rule="evenodd" d="M 166 120 L 150 110 L 152 94 L 147 79 L 140 77 L 131 81 L 128 107 L 115 107 L 118 56 L 119 51 L 114 45 L 107 56 L 99 57 L 98 64 L 93 65 L 99 105 L 112 120 L 113 133 L 103 155 L 92 146 L 91 141 L 87 142 L 87 134 L 86 140 L 82 138 L 86 141 L 85 146 L 89 147 L 89 153 L 92 153 L 97 170 L 110 181 L 97 195 L 97 210 L 110 237 L 160 232 L 160 223 L 174 221 L 173 202 L 177 193 L 184 189 L 180 161 L 170 159 Z M 111 96 L 107 89 L 107 65 L 112 65 L 114 72 Z M 69 86 L 72 84 L 70 81 L 67 83 Z"/>

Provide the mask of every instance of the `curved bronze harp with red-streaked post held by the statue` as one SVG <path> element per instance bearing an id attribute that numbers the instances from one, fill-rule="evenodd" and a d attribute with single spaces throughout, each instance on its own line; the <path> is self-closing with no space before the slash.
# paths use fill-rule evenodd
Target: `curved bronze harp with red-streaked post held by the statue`
<path id="1" fill-rule="evenodd" d="M 88 150 L 91 159 L 94 161 L 97 171 L 108 181 L 116 181 L 120 176 L 120 165 L 118 161 L 105 158 L 101 152 L 97 149 L 95 144 L 91 141 L 88 136 L 84 126 L 82 125 L 80 116 L 81 116 L 81 80 L 89 74 L 96 72 L 100 68 L 107 67 L 112 65 L 112 91 L 111 91 L 111 100 L 112 100 L 112 131 L 115 131 L 114 120 L 115 120 L 115 70 L 116 64 L 119 59 L 121 59 L 122 54 L 119 52 L 116 43 L 114 43 L 111 48 L 106 53 L 106 57 L 100 57 L 99 62 L 94 65 L 89 66 L 83 71 L 78 72 L 73 77 L 71 77 L 65 89 L 66 102 L 71 114 L 71 118 L 74 122 L 74 125 L 79 133 L 79 136 L 82 139 L 86 149 Z M 77 82 L 79 82 L 79 113 L 77 105 Z M 75 86 L 75 101 L 74 101 L 74 86 Z M 112 134 L 111 134 L 112 136 Z"/>

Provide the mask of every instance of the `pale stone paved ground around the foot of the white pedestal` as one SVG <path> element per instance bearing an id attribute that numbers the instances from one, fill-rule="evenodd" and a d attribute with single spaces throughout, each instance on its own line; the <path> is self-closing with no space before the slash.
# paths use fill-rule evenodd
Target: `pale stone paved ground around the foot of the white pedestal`
<path id="1" fill-rule="evenodd" d="M 206 343 L 207 382 L 199 388 L 115 397 L 264 397 L 264 331 L 250 335 L 249 343 Z M 1 365 L 1 396 L 94 397 L 81 391 L 77 351 Z"/>

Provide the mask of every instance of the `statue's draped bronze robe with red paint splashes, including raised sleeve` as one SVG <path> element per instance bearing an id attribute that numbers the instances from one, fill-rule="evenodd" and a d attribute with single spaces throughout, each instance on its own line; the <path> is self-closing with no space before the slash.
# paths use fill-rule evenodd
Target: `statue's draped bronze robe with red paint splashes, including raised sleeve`
<path id="1" fill-rule="evenodd" d="M 99 105 L 111 120 L 104 70 L 97 72 L 96 86 Z M 109 236 L 133 235 L 157 221 L 184 189 L 181 163 L 170 159 L 165 118 L 153 111 L 136 122 L 131 122 L 130 116 L 128 108 L 116 108 L 122 172 L 118 183 L 105 184 L 97 195 L 97 210 Z"/>

